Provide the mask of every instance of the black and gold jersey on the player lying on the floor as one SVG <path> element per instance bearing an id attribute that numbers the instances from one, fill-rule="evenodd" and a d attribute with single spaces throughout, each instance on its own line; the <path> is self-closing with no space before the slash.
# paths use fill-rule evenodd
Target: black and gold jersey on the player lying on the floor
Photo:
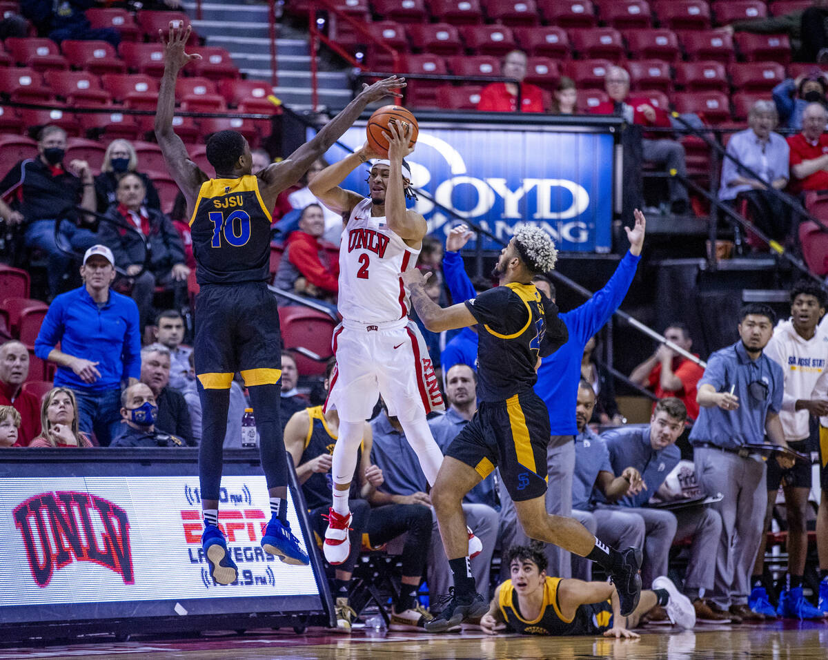
<path id="1" fill-rule="evenodd" d="M 572 619 L 565 619 L 558 604 L 560 577 L 546 577 L 543 585 L 543 604 L 537 619 L 525 619 L 517 605 L 511 580 L 500 585 L 498 608 L 507 629 L 526 635 L 595 635 L 613 627 L 613 608 L 609 600 L 579 605 Z"/>

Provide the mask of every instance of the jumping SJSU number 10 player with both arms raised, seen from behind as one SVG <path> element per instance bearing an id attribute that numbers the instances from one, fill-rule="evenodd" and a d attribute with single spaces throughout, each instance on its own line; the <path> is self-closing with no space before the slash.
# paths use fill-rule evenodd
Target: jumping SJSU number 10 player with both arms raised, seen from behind
<path id="1" fill-rule="evenodd" d="M 366 105 L 404 86 L 388 78 L 368 87 L 316 136 L 286 160 L 251 174 L 253 159 L 241 133 L 219 131 L 207 141 L 210 179 L 190 160 L 172 128 L 176 76 L 200 55 L 188 55 L 190 26 L 170 24 L 164 43 L 164 75 L 158 95 L 155 134 L 164 161 L 191 211 L 196 276 L 201 287 L 195 312 L 195 373 L 201 399 L 199 451 L 200 497 L 205 515 L 201 538 L 210 575 L 219 584 L 238 577 L 218 527 L 222 446 L 227 427 L 229 388 L 240 371 L 248 387 L 261 439 L 262 470 L 267 479 L 272 518 L 262 537 L 265 551 L 289 564 L 307 564 L 308 556 L 287 522 L 287 458 L 279 417 L 281 337 L 276 298 L 267 289 L 270 258 L 269 209 L 277 195 L 299 180 L 310 165 L 359 117 Z"/>

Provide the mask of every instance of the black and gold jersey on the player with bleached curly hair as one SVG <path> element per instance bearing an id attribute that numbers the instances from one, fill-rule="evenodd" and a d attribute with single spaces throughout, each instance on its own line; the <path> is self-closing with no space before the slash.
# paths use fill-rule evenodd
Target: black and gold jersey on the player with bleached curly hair
<path id="1" fill-rule="evenodd" d="M 534 284 L 510 282 L 465 302 L 478 321 L 477 396 L 505 401 L 537 381 L 538 357 L 566 344 L 558 308 Z"/>

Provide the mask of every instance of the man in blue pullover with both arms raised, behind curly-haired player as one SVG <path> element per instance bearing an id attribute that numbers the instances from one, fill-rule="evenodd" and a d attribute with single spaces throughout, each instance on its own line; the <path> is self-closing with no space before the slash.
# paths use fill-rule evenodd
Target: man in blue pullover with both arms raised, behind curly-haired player
<path id="1" fill-rule="evenodd" d="M 575 407 L 580 382 L 580 363 L 584 347 L 604 324 L 612 318 L 627 295 L 635 277 L 641 249 L 647 229 L 646 219 L 636 220 L 633 229 L 625 227 L 629 240 L 629 251 L 621 259 L 613 277 L 604 288 L 597 291 L 590 300 L 562 312 L 559 318 L 569 331 L 569 340 L 555 353 L 543 358 L 537 371 L 535 392 L 546 403 L 549 411 L 551 437 L 546 454 L 549 483 L 546 489 L 546 511 L 558 516 L 569 517 L 572 513 L 572 475 L 575 473 L 575 436 L 578 424 L 575 421 Z M 474 287 L 465 272 L 460 249 L 468 243 L 472 233 L 465 225 L 452 229 L 445 239 L 443 275 L 449 287 L 451 299 L 465 301 L 474 298 Z M 533 281 L 551 301 L 555 301 L 555 289 L 546 277 Z M 517 524 L 514 503 L 506 489 L 500 489 L 501 529 L 503 547 L 526 545 L 529 537 Z M 546 545 L 546 558 L 552 575 L 569 577 L 571 574 L 570 553 L 560 547 Z"/>

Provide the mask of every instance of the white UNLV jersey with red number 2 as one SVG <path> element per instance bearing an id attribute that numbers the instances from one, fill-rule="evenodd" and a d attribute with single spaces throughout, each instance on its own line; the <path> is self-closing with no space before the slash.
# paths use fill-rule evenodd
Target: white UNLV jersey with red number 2
<path id="1" fill-rule="evenodd" d="M 400 273 L 413 268 L 420 250 L 409 248 L 371 217 L 370 199 L 354 206 L 339 244 L 339 314 L 359 323 L 385 323 L 408 316 L 408 296 Z"/>

